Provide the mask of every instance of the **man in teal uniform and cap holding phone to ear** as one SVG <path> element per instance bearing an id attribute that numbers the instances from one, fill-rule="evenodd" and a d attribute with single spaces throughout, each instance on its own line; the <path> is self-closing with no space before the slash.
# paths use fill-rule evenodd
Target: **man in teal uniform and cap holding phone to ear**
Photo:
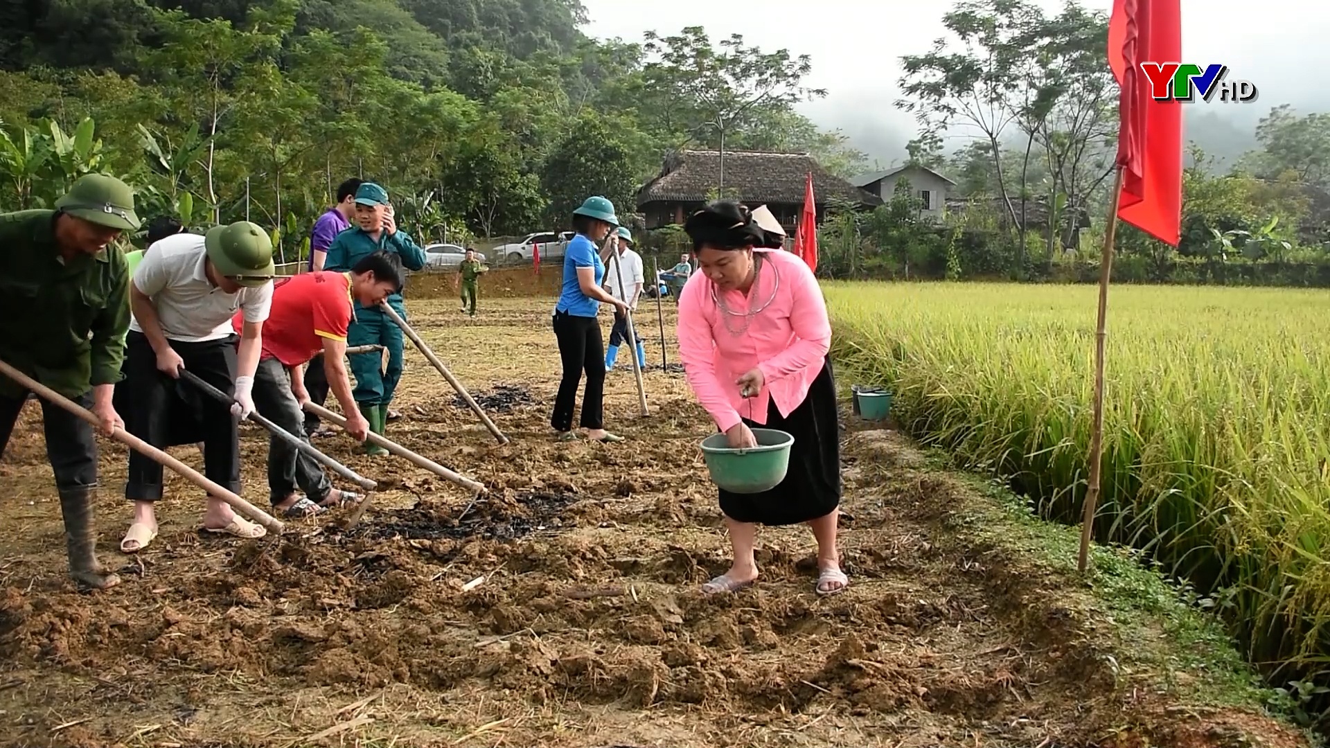
<path id="1" fill-rule="evenodd" d="M 398 230 L 392 205 L 388 202 L 388 192 L 375 182 L 364 182 L 355 190 L 355 225 L 332 240 L 323 260 L 323 269 L 350 273 L 356 262 L 379 250 L 396 254 L 407 270 L 424 268 L 424 250 L 406 232 Z M 407 307 L 402 301 L 400 291 L 388 297 L 388 305 L 403 319 L 407 318 Z M 370 422 L 370 430 L 383 435 L 384 425 L 388 421 L 388 403 L 392 402 L 392 393 L 398 387 L 398 381 L 402 379 L 402 358 L 406 345 L 402 330 L 378 306 L 367 307 L 356 302 L 355 321 L 351 322 L 347 331 L 346 345 L 382 345 L 388 354 L 387 366 L 383 366 L 383 359 L 378 355 L 351 357 L 351 373 L 355 374 L 355 402 L 360 407 L 360 414 Z M 388 454 L 383 447 L 368 442 L 364 443 L 364 453 L 371 455 Z"/>

